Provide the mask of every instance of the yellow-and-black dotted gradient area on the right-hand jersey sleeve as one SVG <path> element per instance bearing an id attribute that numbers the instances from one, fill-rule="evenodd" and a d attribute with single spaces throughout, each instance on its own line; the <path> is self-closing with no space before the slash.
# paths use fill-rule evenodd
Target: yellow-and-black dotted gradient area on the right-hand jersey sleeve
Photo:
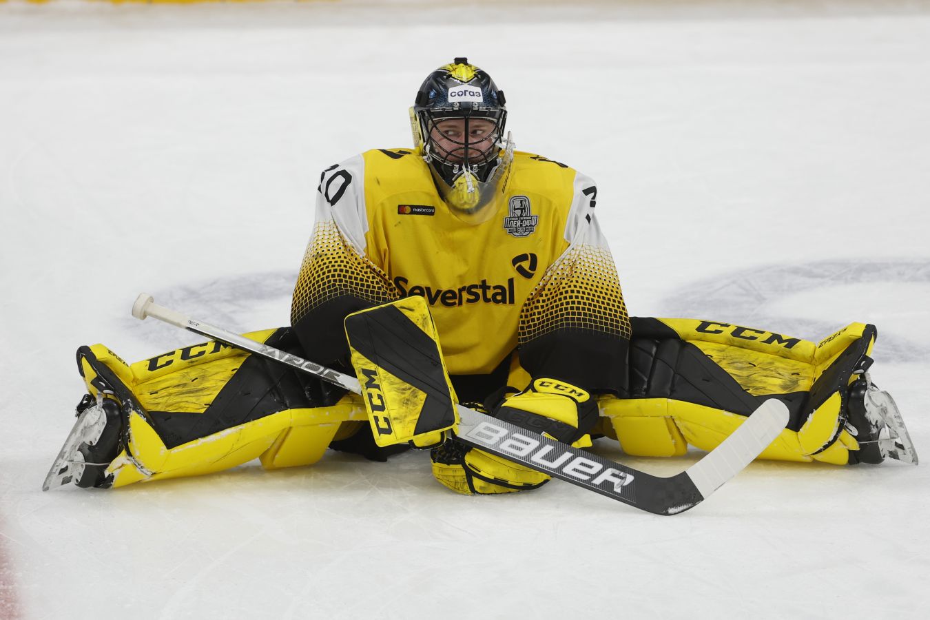
<path id="1" fill-rule="evenodd" d="M 517 330 L 520 344 L 557 329 L 630 337 L 630 317 L 607 248 L 569 248 L 526 298 Z"/>

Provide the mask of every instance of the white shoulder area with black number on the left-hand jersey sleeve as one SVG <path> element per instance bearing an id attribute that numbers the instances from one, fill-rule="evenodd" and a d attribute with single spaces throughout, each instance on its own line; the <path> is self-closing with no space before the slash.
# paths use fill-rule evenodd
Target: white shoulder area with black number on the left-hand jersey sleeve
<path id="1" fill-rule="evenodd" d="M 316 223 L 333 221 L 346 242 L 365 255 L 368 217 L 365 211 L 365 158 L 359 154 L 332 165 L 320 176 Z"/>

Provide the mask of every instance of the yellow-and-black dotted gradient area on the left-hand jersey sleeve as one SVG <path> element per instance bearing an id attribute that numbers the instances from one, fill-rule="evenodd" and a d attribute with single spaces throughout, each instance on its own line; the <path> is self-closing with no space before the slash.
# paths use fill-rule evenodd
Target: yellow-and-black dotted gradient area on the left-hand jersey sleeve
<path id="1" fill-rule="evenodd" d="M 401 297 L 384 271 L 346 244 L 336 222 L 317 223 L 294 286 L 291 324 L 326 301 L 344 295 L 374 305 Z"/>

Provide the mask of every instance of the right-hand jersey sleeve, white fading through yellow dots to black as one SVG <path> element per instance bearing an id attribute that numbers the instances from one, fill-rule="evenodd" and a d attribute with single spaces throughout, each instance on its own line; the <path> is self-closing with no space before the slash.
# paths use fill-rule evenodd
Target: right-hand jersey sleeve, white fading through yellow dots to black
<path id="1" fill-rule="evenodd" d="M 568 247 L 520 311 L 520 363 L 597 392 L 626 393 L 630 317 L 614 259 L 594 215 L 597 188 L 580 173 L 565 223 Z"/>

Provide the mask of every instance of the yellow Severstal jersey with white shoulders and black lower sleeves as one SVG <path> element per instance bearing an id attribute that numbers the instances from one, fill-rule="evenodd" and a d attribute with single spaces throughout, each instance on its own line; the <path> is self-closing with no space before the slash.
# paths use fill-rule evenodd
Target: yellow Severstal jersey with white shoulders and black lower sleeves
<path id="1" fill-rule="evenodd" d="M 628 339 L 596 196 L 591 178 L 515 152 L 500 199 L 485 207 L 493 215 L 466 222 L 445 205 L 417 152 L 356 155 L 321 177 L 292 324 L 306 323 L 299 335 L 341 330 L 348 311 L 419 295 L 452 375 L 490 373 L 518 344 L 559 330 Z"/>

